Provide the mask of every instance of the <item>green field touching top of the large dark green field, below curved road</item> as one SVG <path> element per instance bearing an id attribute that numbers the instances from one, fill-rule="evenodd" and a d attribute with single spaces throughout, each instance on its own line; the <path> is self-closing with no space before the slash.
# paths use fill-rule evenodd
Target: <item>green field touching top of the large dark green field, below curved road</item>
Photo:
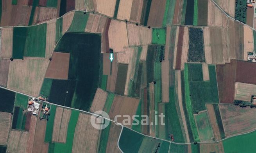
<path id="1" fill-rule="evenodd" d="M 68 31 L 84 32 L 88 18 L 88 13 L 84 14 L 84 12 L 76 11 Z"/>

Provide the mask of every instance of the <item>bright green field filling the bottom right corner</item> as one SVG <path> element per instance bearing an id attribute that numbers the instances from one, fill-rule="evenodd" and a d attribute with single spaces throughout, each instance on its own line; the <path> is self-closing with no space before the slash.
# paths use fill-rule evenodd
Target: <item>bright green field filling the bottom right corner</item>
<path id="1" fill-rule="evenodd" d="M 256 131 L 231 137 L 223 141 L 225 153 L 252 153 Z"/>

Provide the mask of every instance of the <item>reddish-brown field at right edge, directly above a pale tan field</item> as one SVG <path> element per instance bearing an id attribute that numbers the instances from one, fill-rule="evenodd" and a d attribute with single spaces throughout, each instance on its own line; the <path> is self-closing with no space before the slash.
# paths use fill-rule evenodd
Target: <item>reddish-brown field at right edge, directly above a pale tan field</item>
<path id="1" fill-rule="evenodd" d="M 256 84 L 256 63 L 237 60 L 236 82 Z"/>

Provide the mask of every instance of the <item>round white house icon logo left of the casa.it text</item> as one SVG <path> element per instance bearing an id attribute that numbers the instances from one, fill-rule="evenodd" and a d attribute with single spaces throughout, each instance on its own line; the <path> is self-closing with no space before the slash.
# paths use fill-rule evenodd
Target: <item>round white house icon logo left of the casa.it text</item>
<path id="1" fill-rule="evenodd" d="M 98 110 L 91 115 L 91 125 L 97 130 L 107 128 L 109 122 L 109 115 L 102 110 Z"/>

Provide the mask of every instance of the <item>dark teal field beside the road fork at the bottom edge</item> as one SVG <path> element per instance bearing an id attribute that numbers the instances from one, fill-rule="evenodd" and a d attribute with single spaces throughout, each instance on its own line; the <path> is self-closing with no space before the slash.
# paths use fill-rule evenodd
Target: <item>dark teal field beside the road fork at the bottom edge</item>
<path id="1" fill-rule="evenodd" d="M 137 153 L 143 138 L 143 135 L 124 127 L 119 140 L 119 147 L 124 153 Z"/>

